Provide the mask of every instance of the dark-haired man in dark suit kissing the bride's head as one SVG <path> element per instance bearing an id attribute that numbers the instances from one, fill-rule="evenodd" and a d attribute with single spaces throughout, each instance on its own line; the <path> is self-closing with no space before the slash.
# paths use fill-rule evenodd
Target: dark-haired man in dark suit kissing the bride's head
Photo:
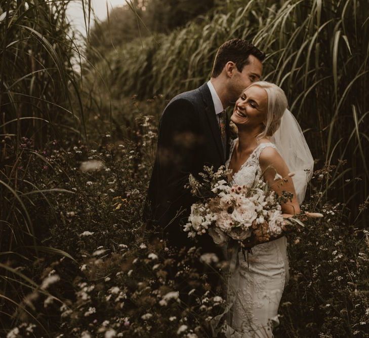
<path id="1" fill-rule="evenodd" d="M 216 171 L 229 155 L 229 118 L 242 90 L 259 81 L 265 54 L 246 40 L 225 42 L 217 52 L 211 79 L 197 89 L 174 97 L 164 109 L 158 132 L 157 154 L 144 207 L 147 230 L 158 226 L 158 238 L 181 248 L 193 246 L 183 229 L 191 204 L 185 189 L 189 174 L 198 177 L 203 166 Z M 208 235 L 199 237 L 202 252 L 222 252 Z"/>

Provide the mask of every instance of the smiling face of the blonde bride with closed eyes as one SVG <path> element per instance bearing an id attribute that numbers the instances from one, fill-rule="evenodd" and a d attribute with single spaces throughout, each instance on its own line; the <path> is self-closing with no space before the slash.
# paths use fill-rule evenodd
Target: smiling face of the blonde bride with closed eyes
<path id="1" fill-rule="evenodd" d="M 237 127 L 242 125 L 262 127 L 266 121 L 267 108 L 267 92 L 259 86 L 252 86 L 245 89 L 237 99 L 231 121 Z"/>

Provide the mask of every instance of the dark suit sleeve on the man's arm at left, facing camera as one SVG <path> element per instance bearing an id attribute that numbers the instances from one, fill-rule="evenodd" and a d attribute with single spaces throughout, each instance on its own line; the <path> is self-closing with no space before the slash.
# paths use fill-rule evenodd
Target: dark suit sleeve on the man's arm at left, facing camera
<path id="1" fill-rule="evenodd" d="M 171 202 L 183 195 L 190 196 L 184 185 L 196 163 L 196 147 L 199 144 L 196 116 L 193 104 L 178 98 L 166 107 L 160 120 L 158 154 L 161 177 L 167 185 L 167 197 Z"/>

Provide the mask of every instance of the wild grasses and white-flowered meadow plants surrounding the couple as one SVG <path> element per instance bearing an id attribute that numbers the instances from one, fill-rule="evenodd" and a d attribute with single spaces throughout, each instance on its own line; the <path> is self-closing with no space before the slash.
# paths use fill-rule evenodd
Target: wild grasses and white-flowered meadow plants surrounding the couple
<path id="1" fill-rule="evenodd" d="M 141 212 L 167 100 L 206 81 L 219 45 L 243 37 L 267 53 L 264 79 L 288 95 L 315 159 L 302 208 L 324 214 L 289 239 L 275 335 L 365 336 L 367 1 L 214 2 L 89 58 L 67 4 L 0 0 L 0 335 L 210 336 L 224 302 L 207 278 L 221 262 L 149 244 Z"/>

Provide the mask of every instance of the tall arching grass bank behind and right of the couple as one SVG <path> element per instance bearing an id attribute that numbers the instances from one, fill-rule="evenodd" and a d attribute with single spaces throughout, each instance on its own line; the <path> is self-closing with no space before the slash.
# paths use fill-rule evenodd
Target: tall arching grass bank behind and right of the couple
<path id="1" fill-rule="evenodd" d="M 113 99 L 171 98 L 209 79 L 217 48 L 233 37 L 267 53 L 264 79 L 288 95 L 317 167 L 336 166 L 324 194 L 331 191 L 357 215 L 369 199 L 367 1 L 226 2 L 170 35 L 117 48 L 98 68 Z"/>

